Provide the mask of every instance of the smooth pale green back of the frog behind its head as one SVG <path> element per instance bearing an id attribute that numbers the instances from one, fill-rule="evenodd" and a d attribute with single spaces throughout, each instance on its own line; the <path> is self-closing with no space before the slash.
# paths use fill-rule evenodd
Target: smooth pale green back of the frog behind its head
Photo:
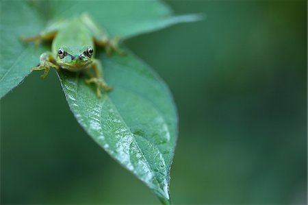
<path id="1" fill-rule="evenodd" d="M 53 40 L 52 51 L 56 53 L 62 47 L 94 47 L 92 35 L 86 25 L 79 18 L 70 19 L 66 25 L 59 30 Z"/>

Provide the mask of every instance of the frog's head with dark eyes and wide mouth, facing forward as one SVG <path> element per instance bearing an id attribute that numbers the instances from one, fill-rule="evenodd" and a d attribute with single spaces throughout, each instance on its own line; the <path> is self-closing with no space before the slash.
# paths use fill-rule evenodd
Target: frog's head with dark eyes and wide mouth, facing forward
<path id="1" fill-rule="evenodd" d="M 57 50 L 57 62 L 67 68 L 84 67 L 92 62 L 93 53 L 90 46 L 60 47 Z"/>

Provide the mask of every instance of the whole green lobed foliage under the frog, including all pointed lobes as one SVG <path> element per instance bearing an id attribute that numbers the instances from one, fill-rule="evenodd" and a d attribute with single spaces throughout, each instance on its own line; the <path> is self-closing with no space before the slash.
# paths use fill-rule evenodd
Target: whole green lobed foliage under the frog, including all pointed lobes
<path id="1" fill-rule="evenodd" d="M 18 36 L 34 35 L 47 20 L 88 12 L 111 36 L 123 39 L 198 16 L 172 16 L 160 1 L 3 1 L 1 8 L 0 97 L 17 86 L 38 64 L 48 45 L 25 45 Z M 170 166 L 177 139 L 177 112 L 168 87 L 136 56 L 97 58 L 114 88 L 97 98 L 85 73 L 60 71 L 66 100 L 77 121 L 105 151 L 129 169 L 163 204 L 170 204 Z"/>

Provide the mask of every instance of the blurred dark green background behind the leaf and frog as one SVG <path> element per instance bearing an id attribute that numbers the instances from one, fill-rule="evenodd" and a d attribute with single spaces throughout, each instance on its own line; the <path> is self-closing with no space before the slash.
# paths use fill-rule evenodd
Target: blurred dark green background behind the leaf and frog
<path id="1" fill-rule="evenodd" d="M 307 204 L 307 1 L 167 3 L 206 19 L 125 45 L 177 104 L 173 202 Z M 1 204 L 159 204 L 40 75 L 1 100 Z"/>

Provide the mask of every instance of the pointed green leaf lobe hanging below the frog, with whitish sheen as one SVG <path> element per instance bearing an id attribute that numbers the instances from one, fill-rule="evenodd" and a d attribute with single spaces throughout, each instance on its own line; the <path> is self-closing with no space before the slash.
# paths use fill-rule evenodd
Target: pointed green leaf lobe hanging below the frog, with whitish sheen
<path id="1" fill-rule="evenodd" d="M 177 112 L 164 82 L 136 56 L 99 59 L 114 88 L 98 99 L 86 76 L 60 72 L 66 100 L 94 141 L 146 183 L 160 200 L 170 199 L 170 166 L 177 138 Z"/>

